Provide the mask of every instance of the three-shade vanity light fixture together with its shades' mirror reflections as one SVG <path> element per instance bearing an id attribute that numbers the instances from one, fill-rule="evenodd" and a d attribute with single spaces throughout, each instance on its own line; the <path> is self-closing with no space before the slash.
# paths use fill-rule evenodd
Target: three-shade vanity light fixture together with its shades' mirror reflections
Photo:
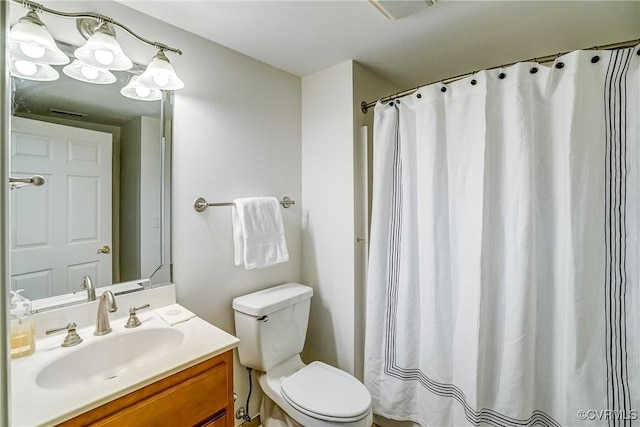
<path id="1" fill-rule="evenodd" d="M 109 84 L 116 78 L 109 70 L 128 70 L 133 66 L 115 38 L 114 27 L 119 27 L 144 44 L 153 46 L 158 53 L 139 78 L 129 83 L 121 93 L 133 99 L 160 99 L 160 90 L 177 90 L 184 83 L 169 63 L 166 52 L 182 55 L 177 48 L 150 41 L 139 36 L 114 19 L 93 12 L 61 12 L 30 0 L 11 0 L 29 9 L 29 12 L 11 28 L 11 74 L 29 80 L 55 80 L 58 72 L 50 65 L 69 63 L 69 57 L 56 45 L 37 13 L 49 13 L 77 21 L 77 29 L 87 42 L 74 51 L 73 62 L 63 72 L 77 80 L 95 84 Z M 133 85 L 133 86 L 132 86 Z M 131 92 L 132 86 L 134 92 Z M 148 89 L 148 90 L 147 90 Z"/>

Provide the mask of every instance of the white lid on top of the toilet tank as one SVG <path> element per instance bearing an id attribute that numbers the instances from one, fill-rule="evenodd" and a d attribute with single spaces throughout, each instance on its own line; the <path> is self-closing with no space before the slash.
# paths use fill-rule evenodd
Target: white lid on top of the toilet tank
<path id="1" fill-rule="evenodd" d="M 284 283 L 233 299 L 233 309 L 250 316 L 264 316 L 313 296 L 313 289 L 299 283 Z"/>

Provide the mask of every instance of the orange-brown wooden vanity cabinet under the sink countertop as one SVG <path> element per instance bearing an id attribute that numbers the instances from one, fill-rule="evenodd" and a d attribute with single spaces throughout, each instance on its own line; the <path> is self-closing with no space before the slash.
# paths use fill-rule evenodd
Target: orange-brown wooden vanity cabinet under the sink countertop
<path id="1" fill-rule="evenodd" d="M 233 350 L 59 426 L 233 426 Z"/>

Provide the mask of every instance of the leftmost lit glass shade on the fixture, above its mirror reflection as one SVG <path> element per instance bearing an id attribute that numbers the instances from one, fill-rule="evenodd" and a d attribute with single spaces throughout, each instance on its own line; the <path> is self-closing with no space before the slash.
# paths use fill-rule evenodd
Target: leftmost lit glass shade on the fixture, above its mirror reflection
<path id="1" fill-rule="evenodd" d="M 40 64 L 68 64 L 69 57 L 60 50 L 38 15 L 30 11 L 9 31 L 9 50 L 15 59 Z"/>

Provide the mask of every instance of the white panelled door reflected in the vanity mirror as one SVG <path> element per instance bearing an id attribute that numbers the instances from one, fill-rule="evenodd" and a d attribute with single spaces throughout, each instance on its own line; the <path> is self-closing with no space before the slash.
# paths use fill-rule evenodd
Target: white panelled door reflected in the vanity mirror
<path id="1" fill-rule="evenodd" d="M 45 179 L 11 191 L 11 289 L 37 299 L 84 275 L 112 283 L 111 134 L 19 117 L 11 129 L 11 176 Z"/>

